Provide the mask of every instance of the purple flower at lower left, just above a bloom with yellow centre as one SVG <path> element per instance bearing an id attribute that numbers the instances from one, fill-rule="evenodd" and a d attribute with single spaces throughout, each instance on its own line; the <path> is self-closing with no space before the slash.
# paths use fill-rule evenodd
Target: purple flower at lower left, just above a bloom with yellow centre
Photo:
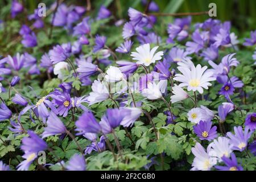
<path id="1" fill-rule="evenodd" d="M 31 130 L 28 130 L 27 133 L 30 137 L 24 137 L 22 139 L 22 146 L 20 146 L 25 153 L 36 153 L 37 155 L 39 151 L 46 150 L 47 144 L 42 138 L 38 137 Z"/>

